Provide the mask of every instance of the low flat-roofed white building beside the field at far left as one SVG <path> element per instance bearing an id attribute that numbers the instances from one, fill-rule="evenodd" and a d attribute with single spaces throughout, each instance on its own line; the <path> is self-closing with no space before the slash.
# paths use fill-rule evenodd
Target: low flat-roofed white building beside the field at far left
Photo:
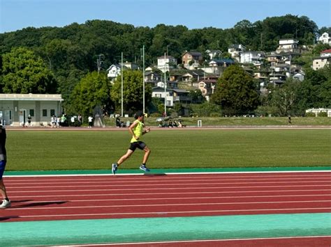
<path id="1" fill-rule="evenodd" d="M 0 94 L 0 120 L 3 125 L 23 126 L 31 115 L 31 125 L 47 126 L 52 115 L 61 115 L 61 95 Z"/>

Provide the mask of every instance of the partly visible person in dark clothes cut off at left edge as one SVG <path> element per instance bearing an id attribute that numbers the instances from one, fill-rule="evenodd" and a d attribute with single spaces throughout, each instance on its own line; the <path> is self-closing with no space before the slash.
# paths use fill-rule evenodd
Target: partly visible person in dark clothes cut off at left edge
<path id="1" fill-rule="evenodd" d="M 3 198 L 3 201 L 0 205 L 1 209 L 5 209 L 6 207 L 10 207 L 11 202 L 8 199 L 6 186 L 3 184 L 3 172 L 6 168 L 7 161 L 7 153 L 6 153 L 6 129 L 0 125 L 0 193 Z"/>

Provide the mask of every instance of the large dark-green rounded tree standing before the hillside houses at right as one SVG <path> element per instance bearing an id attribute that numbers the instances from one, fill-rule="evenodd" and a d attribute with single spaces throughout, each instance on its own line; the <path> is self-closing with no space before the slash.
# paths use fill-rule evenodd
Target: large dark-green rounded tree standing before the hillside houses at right
<path id="1" fill-rule="evenodd" d="M 211 102 L 226 115 L 249 113 L 258 106 L 257 83 L 242 67 L 231 65 L 217 82 Z"/>

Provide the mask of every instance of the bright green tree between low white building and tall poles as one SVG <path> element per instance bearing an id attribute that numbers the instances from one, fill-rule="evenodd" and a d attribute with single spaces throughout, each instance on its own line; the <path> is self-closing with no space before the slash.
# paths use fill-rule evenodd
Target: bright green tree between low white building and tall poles
<path id="1" fill-rule="evenodd" d="M 80 80 L 71 94 L 71 103 L 75 113 L 90 115 L 96 106 L 109 110 L 111 83 L 105 74 L 91 72 Z M 73 112 L 74 113 L 74 112 Z"/>

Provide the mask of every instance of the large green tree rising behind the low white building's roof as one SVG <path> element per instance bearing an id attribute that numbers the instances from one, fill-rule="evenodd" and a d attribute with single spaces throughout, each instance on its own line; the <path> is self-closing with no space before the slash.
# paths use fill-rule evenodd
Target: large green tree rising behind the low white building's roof
<path id="1" fill-rule="evenodd" d="M 24 47 L 2 56 L 3 93 L 56 93 L 57 81 L 43 60 Z"/>

